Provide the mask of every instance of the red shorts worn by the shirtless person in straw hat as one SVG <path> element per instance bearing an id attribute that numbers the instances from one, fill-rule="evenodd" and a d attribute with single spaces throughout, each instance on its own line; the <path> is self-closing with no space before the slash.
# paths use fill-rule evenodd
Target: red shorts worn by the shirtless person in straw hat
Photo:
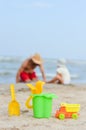
<path id="1" fill-rule="evenodd" d="M 22 81 L 37 79 L 36 73 L 21 72 L 20 78 Z"/>

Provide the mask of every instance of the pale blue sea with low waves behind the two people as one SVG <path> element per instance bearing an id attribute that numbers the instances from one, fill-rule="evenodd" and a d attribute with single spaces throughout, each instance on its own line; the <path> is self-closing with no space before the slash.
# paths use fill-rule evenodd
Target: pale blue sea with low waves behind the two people
<path id="1" fill-rule="evenodd" d="M 23 57 L 0 56 L 0 84 L 15 83 L 16 73 L 25 60 Z M 47 80 L 56 74 L 58 59 L 44 59 L 44 69 Z M 84 60 L 66 60 L 66 65 L 71 74 L 71 83 L 86 83 L 86 61 Z M 36 69 L 37 75 L 41 80 L 39 68 Z"/>

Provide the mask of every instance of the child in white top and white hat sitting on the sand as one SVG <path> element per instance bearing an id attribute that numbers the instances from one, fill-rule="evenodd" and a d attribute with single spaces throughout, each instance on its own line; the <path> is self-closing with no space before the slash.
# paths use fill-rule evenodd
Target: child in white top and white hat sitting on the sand
<path id="1" fill-rule="evenodd" d="M 70 81 L 70 72 L 66 67 L 65 60 L 58 60 L 56 76 L 47 83 L 70 84 Z"/>

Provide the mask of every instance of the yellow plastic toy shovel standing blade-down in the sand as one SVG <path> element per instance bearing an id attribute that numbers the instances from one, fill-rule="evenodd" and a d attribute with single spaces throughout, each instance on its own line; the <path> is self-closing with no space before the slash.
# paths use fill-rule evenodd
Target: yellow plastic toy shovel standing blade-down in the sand
<path id="1" fill-rule="evenodd" d="M 20 105 L 16 101 L 14 84 L 11 84 L 10 89 L 11 89 L 12 101 L 8 105 L 8 113 L 10 116 L 13 116 L 13 115 L 19 116 L 20 115 Z"/>

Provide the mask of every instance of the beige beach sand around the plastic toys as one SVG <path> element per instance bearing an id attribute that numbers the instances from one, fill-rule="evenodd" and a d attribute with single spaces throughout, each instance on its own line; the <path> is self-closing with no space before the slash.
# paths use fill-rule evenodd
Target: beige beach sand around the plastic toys
<path id="1" fill-rule="evenodd" d="M 8 116 L 8 104 L 11 101 L 10 85 L 0 85 L 0 130 L 85 130 L 86 129 L 86 85 L 45 84 L 43 92 L 54 93 L 52 116 L 50 118 L 34 118 L 33 110 L 27 109 L 25 101 L 31 91 L 25 84 L 15 84 L 16 98 L 21 106 L 20 116 Z M 80 104 L 80 116 L 77 120 L 55 118 L 60 103 Z"/>

